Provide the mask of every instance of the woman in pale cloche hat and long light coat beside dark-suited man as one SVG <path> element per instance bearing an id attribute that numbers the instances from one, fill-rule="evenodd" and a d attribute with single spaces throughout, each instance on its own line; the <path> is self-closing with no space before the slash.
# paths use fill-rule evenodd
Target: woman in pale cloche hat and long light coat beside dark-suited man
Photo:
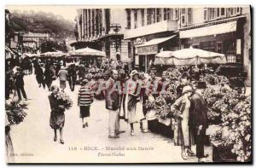
<path id="1" fill-rule="evenodd" d="M 187 85 L 183 87 L 183 96 L 179 97 L 171 107 L 173 116 L 176 118 L 176 126 L 174 128 L 174 144 L 181 146 L 183 159 L 188 156 L 195 156 L 191 151 L 192 136 L 189 131 L 189 97 L 192 96 L 193 89 Z"/>

